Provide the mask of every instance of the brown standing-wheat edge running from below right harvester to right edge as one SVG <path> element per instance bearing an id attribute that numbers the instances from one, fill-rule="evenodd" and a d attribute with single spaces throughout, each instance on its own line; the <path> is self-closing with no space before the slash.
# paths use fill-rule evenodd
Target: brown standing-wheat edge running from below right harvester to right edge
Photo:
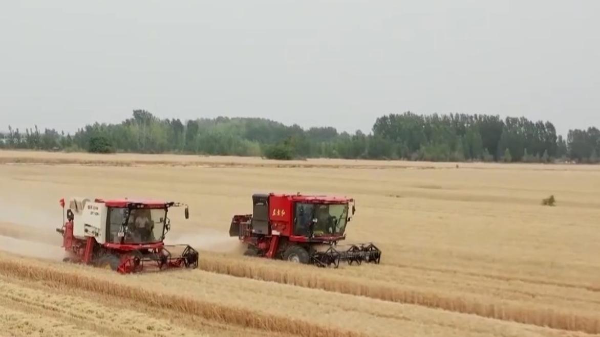
<path id="1" fill-rule="evenodd" d="M 204 256 L 206 257 L 206 254 Z M 288 269 L 283 266 L 274 266 L 274 264 L 278 264 L 277 261 L 267 261 L 262 265 L 258 263 L 248 264 L 237 258 L 211 254 L 210 258 L 200 260 L 200 269 L 244 278 L 366 296 L 390 302 L 427 306 L 463 314 L 474 314 L 498 320 L 551 327 L 553 329 L 600 333 L 600 317 L 597 317 L 597 315 L 518 305 L 501 300 L 486 302 L 477 297 L 454 297 L 429 291 L 403 289 L 376 281 L 365 282 L 364 279 L 358 280 L 333 275 L 322 276 L 314 272 L 307 272 L 306 268 Z"/>

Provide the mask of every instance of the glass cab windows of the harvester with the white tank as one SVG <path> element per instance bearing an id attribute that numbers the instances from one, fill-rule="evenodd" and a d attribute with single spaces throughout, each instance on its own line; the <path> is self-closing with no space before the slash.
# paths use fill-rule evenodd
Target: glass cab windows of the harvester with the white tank
<path id="1" fill-rule="evenodd" d="M 109 208 L 106 242 L 121 243 L 119 231 L 125 220 L 126 208 Z M 149 243 L 163 240 L 165 209 L 132 209 L 127 219 L 124 243 Z"/>

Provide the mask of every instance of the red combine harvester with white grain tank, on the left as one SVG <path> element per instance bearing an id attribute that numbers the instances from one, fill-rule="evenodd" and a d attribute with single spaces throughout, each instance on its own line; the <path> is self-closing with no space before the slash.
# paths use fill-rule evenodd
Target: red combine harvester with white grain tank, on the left
<path id="1" fill-rule="evenodd" d="M 61 199 L 65 208 L 65 200 Z M 198 252 L 189 245 L 164 245 L 170 230 L 170 207 L 165 201 L 71 198 L 62 234 L 64 261 L 110 268 L 119 273 L 170 268 L 196 268 Z M 63 213 L 64 214 L 64 213 Z M 64 216 L 64 215 L 63 215 Z M 175 254 L 178 251 L 178 254 Z"/>

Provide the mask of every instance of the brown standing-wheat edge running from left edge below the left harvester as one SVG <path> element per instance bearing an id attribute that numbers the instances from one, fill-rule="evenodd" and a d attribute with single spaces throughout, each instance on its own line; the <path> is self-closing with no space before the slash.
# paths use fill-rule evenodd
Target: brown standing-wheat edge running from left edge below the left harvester
<path id="1" fill-rule="evenodd" d="M 94 293 L 104 294 L 107 296 L 116 296 L 125 299 L 136 300 L 151 306 L 161 306 L 163 308 L 184 312 L 186 314 L 198 315 L 208 320 L 268 330 L 272 332 L 331 337 L 361 336 L 359 333 L 322 327 L 306 321 L 260 314 L 256 311 L 227 307 L 218 303 L 203 302 L 183 296 L 152 293 L 151 291 L 118 284 L 115 282 L 98 282 L 97 279 L 90 276 L 79 275 L 71 272 L 62 272 L 60 270 L 44 267 L 33 268 L 32 266 L 28 266 L 19 262 L 5 260 L 0 261 L 0 273 L 23 279 L 56 282 L 61 286 L 67 285 L 68 287 L 79 290 L 92 291 Z"/>

